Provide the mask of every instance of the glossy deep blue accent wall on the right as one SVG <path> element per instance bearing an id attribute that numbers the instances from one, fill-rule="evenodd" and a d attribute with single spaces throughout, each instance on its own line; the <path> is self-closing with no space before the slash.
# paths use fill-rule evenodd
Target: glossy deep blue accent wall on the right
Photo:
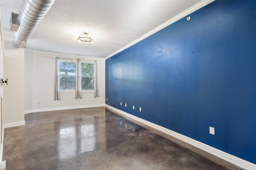
<path id="1" fill-rule="evenodd" d="M 256 164 L 256 1 L 188 16 L 106 59 L 106 104 Z"/>

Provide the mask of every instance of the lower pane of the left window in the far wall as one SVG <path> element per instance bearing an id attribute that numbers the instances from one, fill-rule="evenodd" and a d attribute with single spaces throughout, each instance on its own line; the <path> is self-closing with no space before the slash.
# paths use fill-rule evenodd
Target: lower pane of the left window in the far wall
<path id="1" fill-rule="evenodd" d="M 60 90 L 76 90 L 76 77 L 60 76 Z"/>

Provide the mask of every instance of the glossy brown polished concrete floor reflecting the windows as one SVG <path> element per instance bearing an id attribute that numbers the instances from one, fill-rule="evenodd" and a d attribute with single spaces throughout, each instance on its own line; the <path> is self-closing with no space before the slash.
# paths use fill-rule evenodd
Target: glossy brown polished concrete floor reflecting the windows
<path id="1" fill-rule="evenodd" d="M 4 129 L 7 170 L 242 169 L 217 164 L 105 107 L 29 113 L 25 121 Z"/>

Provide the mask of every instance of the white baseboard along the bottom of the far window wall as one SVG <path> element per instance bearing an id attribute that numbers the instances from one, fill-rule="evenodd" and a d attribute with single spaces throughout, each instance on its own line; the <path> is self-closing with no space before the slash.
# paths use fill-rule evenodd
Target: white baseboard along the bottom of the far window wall
<path id="1" fill-rule="evenodd" d="M 105 106 L 105 104 L 84 105 L 84 106 L 70 106 L 70 107 L 55 107 L 55 108 L 47 108 L 47 109 L 33 109 L 33 110 L 26 110 L 26 111 L 24 111 L 24 114 L 33 113 L 33 112 L 41 112 L 41 111 L 82 109 L 82 108 L 88 108 L 88 107 L 102 107 L 102 106 Z"/>

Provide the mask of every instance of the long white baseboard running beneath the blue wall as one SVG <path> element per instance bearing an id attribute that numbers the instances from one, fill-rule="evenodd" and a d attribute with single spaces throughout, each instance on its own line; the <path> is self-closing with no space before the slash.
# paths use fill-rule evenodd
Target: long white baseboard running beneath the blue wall
<path id="1" fill-rule="evenodd" d="M 146 121 L 144 119 L 141 119 L 139 117 L 136 117 L 134 115 L 131 115 L 129 113 L 126 113 L 122 110 L 116 109 L 115 107 L 109 106 L 106 104 L 106 107 L 113 109 L 114 111 L 117 111 L 118 113 L 121 113 L 122 115 L 125 115 L 127 117 L 130 117 L 131 119 L 134 119 L 135 121 L 139 121 L 140 123 L 143 123 L 145 125 L 148 125 L 158 131 L 161 131 L 163 133 L 166 133 L 167 135 L 170 135 L 172 137 L 175 137 L 177 139 L 180 139 L 181 141 L 184 141 L 190 145 L 193 145 L 194 147 L 197 147 L 199 149 L 202 149 L 206 152 L 209 152 L 210 154 L 213 154 L 215 156 L 218 156 L 219 158 L 222 158 L 223 160 L 226 160 L 232 164 L 235 164 L 236 166 L 240 166 L 246 170 L 256 170 L 256 164 L 253 164 L 251 162 L 248 162 L 246 160 L 243 160 L 241 158 L 238 158 L 234 155 L 228 154 L 226 152 L 223 152 L 222 150 L 216 149 L 214 147 L 211 147 L 209 145 L 206 145 L 204 143 L 201 143 L 199 141 L 196 141 L 190 137 L 186 137 L 180 133 L 176 133 L 174 131 L 171 131 L 170 129 L 166 129 L 165 127 L 156 125 L 154 123 L 151 123 L 149 121 Z"/>

